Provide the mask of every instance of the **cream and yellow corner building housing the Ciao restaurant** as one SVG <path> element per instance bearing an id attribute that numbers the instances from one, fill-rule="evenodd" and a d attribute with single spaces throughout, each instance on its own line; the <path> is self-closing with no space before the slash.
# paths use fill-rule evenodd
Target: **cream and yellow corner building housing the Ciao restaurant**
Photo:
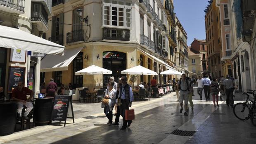
<path id="1" fill-rule="evenodd" d="M 53 0 L 49 19 L 46 38 L 66 46 L 69 56 L 42 60 L 46 82 L 55 78 L 58 85 L 106 87 L 110 76 L 117 81 L 121 71 L 133 66 L 157 73 L 175 66 L 175 14 L 170 0 Z M 51 66 L 46 66 L 47 59 L 53 59 Z M 92 64 L 111 70 L 112 75 L 75 76 Z M 150 82 L 152 77 L 138 76 L 137 83 Z M 161 84 L 169 78 L 175 76 L 156 76 Z"/>

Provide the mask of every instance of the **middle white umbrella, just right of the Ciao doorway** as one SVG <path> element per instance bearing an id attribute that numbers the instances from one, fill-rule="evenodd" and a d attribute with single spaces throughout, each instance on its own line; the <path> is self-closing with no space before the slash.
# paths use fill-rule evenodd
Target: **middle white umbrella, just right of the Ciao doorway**
<path id="1" fill-rule="evenodd" d="M 132 74 L 132 75 L 158 75 L 156 72 L 151 71 L 143 66 L 135 66 L 124 71 L 121 74 Z"/>

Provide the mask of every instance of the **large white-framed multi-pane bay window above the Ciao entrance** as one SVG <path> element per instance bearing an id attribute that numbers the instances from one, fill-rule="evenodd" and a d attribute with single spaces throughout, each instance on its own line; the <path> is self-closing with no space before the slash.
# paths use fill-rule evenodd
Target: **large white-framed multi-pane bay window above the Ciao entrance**
<path id="1" fill-rule="evenodd" d="M 125 0 L 104 0 L 103 25 L 130 27 L 131 2 Z"/>

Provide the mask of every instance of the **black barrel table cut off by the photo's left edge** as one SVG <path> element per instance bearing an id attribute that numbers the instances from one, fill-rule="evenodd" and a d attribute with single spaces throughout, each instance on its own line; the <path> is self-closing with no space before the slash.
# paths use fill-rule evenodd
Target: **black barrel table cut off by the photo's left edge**
<path id="1" fill-rule="evenodd" d="M 0 136 L 14 132 L 17 120 L 16 102 L 0 102 Z"/>

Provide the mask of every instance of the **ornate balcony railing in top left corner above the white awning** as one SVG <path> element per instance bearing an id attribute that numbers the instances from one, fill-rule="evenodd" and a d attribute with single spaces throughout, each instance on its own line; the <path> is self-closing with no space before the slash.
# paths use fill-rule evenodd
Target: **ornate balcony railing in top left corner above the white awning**
<path id="1" fill-rule="evenodd" d="M 24 12 L 25 0 L 0 0 L 0 5 Z"/>

